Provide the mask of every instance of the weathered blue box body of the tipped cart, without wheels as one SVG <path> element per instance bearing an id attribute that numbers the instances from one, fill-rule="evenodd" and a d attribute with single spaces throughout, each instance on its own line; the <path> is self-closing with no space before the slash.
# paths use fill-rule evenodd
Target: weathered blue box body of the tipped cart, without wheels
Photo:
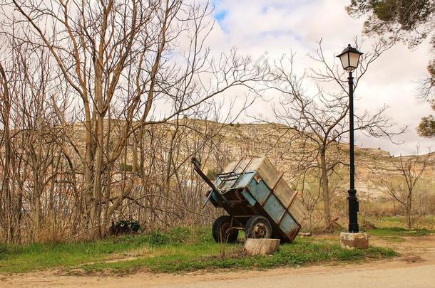
<path id="1" fill-rule="evenodd" d="M 272 171 L 272 180 L 267 183 L 266 173 L 262 174 L 257 166 L 254 166 L 257 170 L 249 169 L 250 163 L 252 160 L 244 169 L 238 169 L 240 167 L 236 165 L 230 169 L 232 171 L 218 174 L 207 201 L 224 208 L 240 227 L 250 217 L 262 215 L 270 221 L 275 238 L 291 242 L 301 229 L 305 208 L 297 203 L 297 193 L 282 180 L 282 174 L 275 177 L 275 171 Z M 257 163 L 261 165 L 262 161 Z M 268 169 L 272 169 L 268 163 Z M 293 212 L 292 207 L 295 208 Z"/>

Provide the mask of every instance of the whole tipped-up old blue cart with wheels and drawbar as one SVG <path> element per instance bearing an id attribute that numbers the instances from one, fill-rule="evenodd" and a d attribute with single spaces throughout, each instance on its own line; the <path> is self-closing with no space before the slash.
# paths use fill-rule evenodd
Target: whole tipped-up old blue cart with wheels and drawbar
<path id="1" fill-rule="evenodd" d="M 217 242 L 235 242 L 240 230 L 247 238 L 276 238 L 292 242 L 307 216 L 297 192 L 282 178 L 266 157 L 242 159 L 227 165 L 216 180 L 210 181 L 193 158 L 195 171 L 208 183 L 204 206 L 210 201 L 228 215 L 213 223 L 213 238 Z"/>

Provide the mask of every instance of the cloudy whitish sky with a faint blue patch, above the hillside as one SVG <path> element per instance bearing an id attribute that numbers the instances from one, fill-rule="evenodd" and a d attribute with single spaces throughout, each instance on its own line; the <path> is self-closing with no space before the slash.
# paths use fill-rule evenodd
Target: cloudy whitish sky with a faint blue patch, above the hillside
<path id="1" fill-rule="evenodd" d="M 280 58 L 283 53 L 296 53 L 297 68 L 301 71 L 312 65 L 307 55 L 313 53 L 322 38 L 324 54 L 333 59 L 355 36 L 362 37 L 363 20 L 351 18 L 345 11 L 349 0 L 214 0 L 213 17 L 216 25 L 210 35 L 210 47 L 228 50 L 237 47 L 252 58 Z M 370 39 L 366 41 L 369 48 Z M 362 51 L 364 52 L 364 51 Z M 406 134 L 396 138 L 396 145 L 388 139 L 370 139 L 358 135 L 357 144 L 381 147 L 391 154 L 414 154 L 435 149 L 434 139 L 416 134 L 422 115 L 430 114 L 428 104 L 416 98 L 418 80 L 424 77 L 428 62 L 429 44 L 409 50 L 396 45 L 384 53 L 364 76 L 356 92 L 355 107 L 359 111 L 376 112 L 383 105 L 389 107 L 388 116 L 398 127 L 408 127 Z M 278 100 L 279 95 L 272 102 Z M 247 112 L 267 114 L 270 102 L 258 101 Z M 243 119 L 242 119 L 243 120 Z"/>

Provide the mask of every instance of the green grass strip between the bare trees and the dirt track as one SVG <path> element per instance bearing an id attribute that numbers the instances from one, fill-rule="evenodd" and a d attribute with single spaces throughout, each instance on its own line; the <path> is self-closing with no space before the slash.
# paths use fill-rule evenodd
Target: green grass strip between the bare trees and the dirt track
<path id="1" fill-rule="evenodd" d="M 168 233 L 127 235 L 95 242 L 1 245 L 0 272 L 61 269 L 79 273 L 188 272 L 265 269 L 324 262 L 354 262 L 396 255 L 391 249 L 343 250 L 338 240 L 296 238 L 268 257 L 247 257 L 242 244 L 220 245 L 210 228 L 176 228 Z"/>

